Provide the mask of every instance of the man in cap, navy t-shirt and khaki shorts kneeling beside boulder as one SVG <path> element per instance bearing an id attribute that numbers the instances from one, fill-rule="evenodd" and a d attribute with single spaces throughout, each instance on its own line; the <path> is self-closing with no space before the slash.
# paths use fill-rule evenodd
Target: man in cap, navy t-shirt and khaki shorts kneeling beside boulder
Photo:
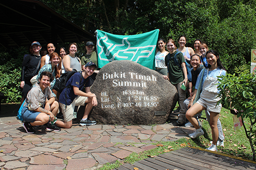
<path id="1" fill-rule="evenodd" d="M 90 121 L 87 119 L 93 106 L 97 106 L 98 102 L 96 95 L 90 92 L 90 75 L 94 73 L 96 64 L 88 62 L 85 65 L 84 71 L 77 72 L 71 76 L 67 81 L 65 89 L 63 89 L 59 102 L 64 116 L 64 122 L 57 122 L 57 126 L 63 128 L 71 128 L 72 120 L 74 118 L 73 113 L 75 106 L 84 106 L 86 104 L 85 113 L 83 119 L 80 121 L 80 125 L 95 125 L 96 121 Z M 85 92 L 82 89 L 85 87 Z"/>

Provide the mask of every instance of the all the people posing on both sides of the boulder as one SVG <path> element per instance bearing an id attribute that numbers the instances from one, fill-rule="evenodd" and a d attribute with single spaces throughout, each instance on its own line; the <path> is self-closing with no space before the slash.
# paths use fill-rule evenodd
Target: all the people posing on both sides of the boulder
<path id="1" fill-rule="evenodd" d="M 224 136 L 218 119 L 222 106 L 217 104 L 219 98 L 216 83 L 217 76 L 225 75 L 226 70 L 217 51 L 208 50 L 207 45 L 201 40 L 194 41 L 194 50 L 185 47 L 184 35 L 179 37 L 178 44 L 179 48 L 176 47 L 174 40 L 169 39 L 165 42 L 163 38 L 159 38 L 155 56 L 156 71 L 162 74 L 164 79 L 168 79 L 179 94 L 180 114 L 173 125 L 183 125 L 188 120 L 189 123 L 186 125 L 195 127 L 194 133 L 189 134 L 189 137 L 203 135 L 204 131 L 195 115 L 205 110 L 213 134 L 212 146 L 208 150 L 217 151 L 217 145 L 224 146 Z M 33 126 L 40 125 L 49 130 L 70 128 L 75 106 L 84 106 L 85 103 L 86 108 L 80 125 L 96 124 L 95 121 L 88 120 L 88 115 L 92 107 L 97 106 L 96 95 L 90 92 L 91 81 L 95 80 L 99 72 L 97 54 L 94 51 L 94 43 L 87 42 L 85 48 L 86 54 L 80 60 L 76 57 L 76 43 L 69 44 L 68 54 L 64 47 L 56 53 L 55 46 L 49 43 L 48 54 L 42 57 L 40 43 L 31 44 L 30 54 L 26 55 L 22 62 L 20 83 L 25 100 L 21 114 L 27 133 L 34 133 Z M 191 69 L 187 69 L 186 64 L 190 64 Z M 73 70 L 77 72 L 68 80 L 61 94 L 58 94 L 53 89 L 56 79 L 61 74 Z M 190 72 L 192 77 L 188 81 Z M 32 82 L 33 79 L 36 81 Z M 182 86 L 187 87 L 187 90 Z M 59 110 L 63 113 L 64 121 L 56 120 Z"/>

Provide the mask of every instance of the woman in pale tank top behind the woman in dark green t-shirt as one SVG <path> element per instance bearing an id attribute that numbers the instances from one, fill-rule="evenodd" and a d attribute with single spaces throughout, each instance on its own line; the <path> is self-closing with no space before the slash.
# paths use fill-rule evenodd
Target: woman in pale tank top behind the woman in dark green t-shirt
<path id="1" fill-rule="evenodd" d="M 183 54 L 184 59 L 187 60 L 188 63 L 190 63 L 191 56 L 195 54 L 194 50 L 191 47 L 185 47 L 186 37 L 184 35 L 181 35 L 179 37 L 178 43 L 179 43 L 179 48 L 177 50 L 180 51 Z"/>

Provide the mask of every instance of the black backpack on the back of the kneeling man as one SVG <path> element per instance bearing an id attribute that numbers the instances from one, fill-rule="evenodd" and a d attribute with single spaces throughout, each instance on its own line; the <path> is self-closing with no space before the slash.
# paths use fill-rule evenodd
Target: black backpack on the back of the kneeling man
<path id="1" fill-rule="evenodd" d="M 76 71 L 76 69 L 73 69 L 72 71 L 68 71 L 63 73 L 59 79 L 56 79 L 53 90 L 56 90 L 57 92 L 61 93 L 62 90 L 66 87 L 69 87 L 70 85 L 66 86 L 67 81 L 70 79 L 70 77 L 77 73 L 78 71 Z M 79 71 L 79 73 L 81 74 L 81 80 L 82 81 L 82 71 Z"/>

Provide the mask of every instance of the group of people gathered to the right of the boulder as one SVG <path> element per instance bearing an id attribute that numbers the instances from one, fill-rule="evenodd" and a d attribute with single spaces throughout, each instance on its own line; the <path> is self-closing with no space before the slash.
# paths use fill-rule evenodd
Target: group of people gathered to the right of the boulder
<path id="1" fill-rule="evenodd" d="M 205 110 L 213 138 L 212 145 L 207 150 L 217 151 L 217 146 L 224 146 L 224 135 L 222 124 L 218 119 L 222 104 L 217 104 L 220 98 L 216 84 L 217 76 L 226 75 L 226 70 L 220 62 L 217 51 L 208 50 L 208 46 L 201 40 L 194 41 L 194 50 L 185 47 L 184 35 L 178 38 L 178 44 L 179 48 L 176 47 L 174 40 L 169 39 L 165 42 L 164 39 L 159 38 L 157 42 L 159 51 L 155 57 L 156 71 L 162 74 L 164 79 L 168 79 L 179 94 L 180 114 L 173 125 L 184 125 L 188 120 L 189 123 L 185 126 L 195 127 L 194 132 L 189 134 L 190 138 L 204 135 L 196 115 Z M 187 70 L 186 62 L 190 64 L 191 69 Z M 188 72 L 192 75 L 190 81 L 188 81 Z M 187 89 L 182 89 L 182 85 Z"/>

